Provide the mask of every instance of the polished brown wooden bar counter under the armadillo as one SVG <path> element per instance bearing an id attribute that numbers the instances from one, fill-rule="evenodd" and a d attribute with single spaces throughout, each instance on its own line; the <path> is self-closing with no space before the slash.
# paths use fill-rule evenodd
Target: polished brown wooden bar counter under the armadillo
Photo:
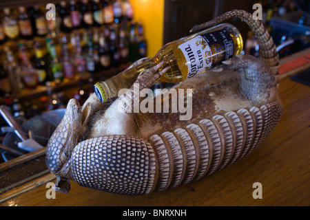
<path id="1" fill-rule="evenodd" d="M 310 63 L 310 62 L 309 62 Z M 47 199 L 46 174 L 25 192 L 0 195 L 0 206 L 310 206 L 310 87 L 280 80 L 284 112 L 276 129 L 250 155 L 185 186 L 145 196 L 115 195 L 71 181 L 68 194 Z M 254 183 L 262 199 L 254 199 Z M 11 190 L 12 191 L 12 190 Z"/>

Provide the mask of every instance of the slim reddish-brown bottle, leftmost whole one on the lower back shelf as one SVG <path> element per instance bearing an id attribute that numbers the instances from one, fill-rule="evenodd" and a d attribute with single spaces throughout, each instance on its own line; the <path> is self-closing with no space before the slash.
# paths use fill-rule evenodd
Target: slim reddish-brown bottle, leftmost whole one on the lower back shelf
<path id="1" fill-rule="evenodd" d="M 10 85 L 12 86 L 12 93 L 19 94 L 23 89 L 23 83 L 21 80 L 21 67 L 18 65 L 17 61 L 15 61 L 14 55 L 9 47 L 5 47 L 6 51 L 6 69 L 8 71 L 8 76 L 10 79 Z"/>

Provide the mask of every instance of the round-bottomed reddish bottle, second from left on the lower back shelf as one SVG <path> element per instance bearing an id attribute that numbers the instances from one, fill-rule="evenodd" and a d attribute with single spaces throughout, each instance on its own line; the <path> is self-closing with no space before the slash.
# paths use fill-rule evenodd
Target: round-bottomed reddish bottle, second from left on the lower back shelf
<path id="1" fill-rule="evenodd" d="M 34 89 L 38 85 L 37 72 L 30 61 L 29 54 L 23 43 L 19 43 L 19 57 L 21 58 L 21 78 L 23 85 L 27 89 Z"/>

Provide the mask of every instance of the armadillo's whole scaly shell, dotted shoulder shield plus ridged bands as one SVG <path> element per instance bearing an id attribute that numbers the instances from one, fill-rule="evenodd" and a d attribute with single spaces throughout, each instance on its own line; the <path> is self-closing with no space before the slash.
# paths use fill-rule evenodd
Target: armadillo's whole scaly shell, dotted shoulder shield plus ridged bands
<path id="1" fill-rule="evenodd" d="M 72 179 L 81 186 L 126 195 L 187 184 L 253 151 L 281 113 L 282 104 L 273 102 L 215 115 L 188 124 L 186 130 L 152 135 L 149 142 L 128 135 L 85 140 L 72 152 Z"/>

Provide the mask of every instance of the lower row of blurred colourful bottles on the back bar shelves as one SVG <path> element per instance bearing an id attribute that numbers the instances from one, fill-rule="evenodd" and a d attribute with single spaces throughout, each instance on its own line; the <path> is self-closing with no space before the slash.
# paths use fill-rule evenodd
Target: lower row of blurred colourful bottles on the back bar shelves
<path id="1" fill-rule="evenodd" d="M 16 52 L 5 45 L 1 54 L 0 91 L 4 94 L 19 94 L 50 81 L 87 78 L 89 73 L 104 74 L 104 70 L 146 56 L 143 26 L 133 21 L 16 43 Z"/>

